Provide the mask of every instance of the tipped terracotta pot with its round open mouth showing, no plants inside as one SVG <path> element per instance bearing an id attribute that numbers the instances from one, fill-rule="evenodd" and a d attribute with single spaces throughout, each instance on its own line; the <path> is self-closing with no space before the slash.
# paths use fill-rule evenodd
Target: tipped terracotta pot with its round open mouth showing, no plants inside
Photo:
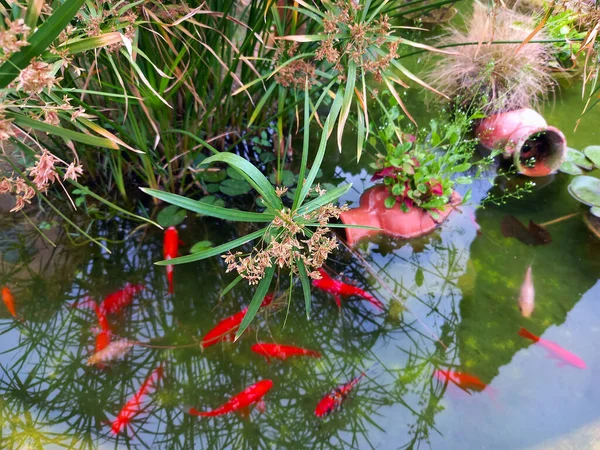
<path id="1" fill-rule="evenodd" d="M 487 117 L 475 133 L 483 146 L 502 149 L 506 158 L 513 158 L 519 173 L 529 177 L 556 172 L 567 153 L 562 132 L 548 126 L 542 116 L 529 108 Z M 535 158 L 533 164 L 528 163 L 531 158 Z"/>

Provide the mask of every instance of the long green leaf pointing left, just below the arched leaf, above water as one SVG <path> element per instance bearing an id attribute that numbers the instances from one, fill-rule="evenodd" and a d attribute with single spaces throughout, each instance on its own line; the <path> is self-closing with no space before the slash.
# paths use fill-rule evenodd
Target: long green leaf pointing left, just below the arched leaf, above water
<path id="1" fill-rule="evenodd" d="M 271 222 L 275 218 L 274 214 L 238 211 L 200 202 L 198 200 L 192 200 L 182 195 L 171 194 L 170 192 L 159 191 L 157 189 L 140 189 L 145 194 L 156 197 L 159 200 L 172 205 L 177 205 L 180 208 L 185 208 L 195 213 L 204 214 L 205 216 L 216 217 L 217 219 L 231 220 L 233 222 Z"/>

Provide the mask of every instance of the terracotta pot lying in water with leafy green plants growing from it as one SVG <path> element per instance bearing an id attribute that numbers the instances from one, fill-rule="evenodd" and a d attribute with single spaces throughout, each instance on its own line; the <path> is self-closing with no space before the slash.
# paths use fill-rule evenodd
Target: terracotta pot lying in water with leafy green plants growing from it
<path id="1" fill-rule="evenodd" d="M 343 212 L 340 216 L 346 225 L 366 225 L 381 228 L 381 230 L 367 230 L 362 228 L 346 228 L 346 238 L 349 245 L 354 245 L 359 240 L 386 233 L 390 236 L 409 239 L 431 233 L 452 212 L 453 206 L 461 202 L 458 193 L 453 192 L 448 206 L 444 207 L 437 219 L 434 219 L 424 209 L 412 207 L 408 212 L 403 212 L 398 206 L 386 208 L 385 199 L 388 190 L 383 185 L 367 189 L 360 197 L 360 205 Z"/>

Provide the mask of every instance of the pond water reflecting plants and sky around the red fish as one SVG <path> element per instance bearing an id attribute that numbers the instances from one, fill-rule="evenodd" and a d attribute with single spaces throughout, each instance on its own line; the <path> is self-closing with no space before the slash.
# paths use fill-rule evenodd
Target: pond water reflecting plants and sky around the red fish
<path id="1" fill-rule="evenodd" d="M 583 148 L 598 143 L 600 110 L 574 133 L 578 95 L 576 86 L 565 87 L 545 116 L 570 146 Z M 324 179 L 352 182 L 343 201 L 356 203 L 370 185 L 367 161 L 361 167 L 329 155 Z M 276 298 L 238 342 L 204 351 L 202 336 L 253 293 L 239 284 L 220 298 L 233 279 L 220 258 L 176 266 L 170 295 L 164 267 L 153 264 L 162 259 L 158 229 L 95 221 L 92 234 L 106 239 L 109 254 L 72 242 L 58 227 L 48 233 L 60 245 L 44 245 L 36 231 L 5 216 L 0 281 L 12 288 L 18 319 L 0 305 L 0 447 L 596 448 L 590 436 L 600 419 L 600 241 L 581 216 L 548 226 L 548 245 L 527 246 L 500 231 L 506 215 L 543 223 L 582 211 L 567 192 L 569 179 L 537 180 L 523 199 L 476 210 L 490 188 L 482 180 L 473 205 L 426 238 L 380 239 L 354 253 L 342 248 L 328 268 L 383 301 L 383 313 L 358 299 L 338 311 L 331 295 L 315 289 L 307 320 L 297 287 L 289 310 Z M 181 251 L 204 239 L 232 240 L 245 227 L 188 217 Z M 529 265 L 536 306 L 526 319 L 517 299 Z M 71 306 L 86 296 L 101 300 L 126 283 L 145 289 L 108 317 L 112 333 L 154 347 L 136 346 L 104 368 L 87 366 L 96 315 Z M 548 358 L 542 345 L 518 335 L 521 327 L 579 356 L 586 368 Z M 268 363 L 250 349 L 258 341 L 318 350 L 322 358 Z M 161 364 L 164 379 L 131 429 L 113 435 L 110 421 Z M 325 394 L 368 368 L 340 410 L 315 417 Z M 436 378 L 436 369 L 468 373 L 488 386 L 463 390 Z M 184 412 L 214 409 L 265 379 L 273 381 L 265 408 L 249 417 Z"/>

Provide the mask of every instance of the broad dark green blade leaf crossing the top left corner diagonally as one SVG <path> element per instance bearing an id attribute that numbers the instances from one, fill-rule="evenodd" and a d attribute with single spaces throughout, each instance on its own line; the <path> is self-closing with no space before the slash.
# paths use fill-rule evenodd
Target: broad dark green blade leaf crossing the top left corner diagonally
<path id="1" fill-rule="evenodd" d="M 60 32 L 75 17 L 84 0 L 66 0 L 28 39 L 29 45 L 23 47 L 0 66 L 0 89 L 6 88 L 29 62 L 41 55 Z"/>

